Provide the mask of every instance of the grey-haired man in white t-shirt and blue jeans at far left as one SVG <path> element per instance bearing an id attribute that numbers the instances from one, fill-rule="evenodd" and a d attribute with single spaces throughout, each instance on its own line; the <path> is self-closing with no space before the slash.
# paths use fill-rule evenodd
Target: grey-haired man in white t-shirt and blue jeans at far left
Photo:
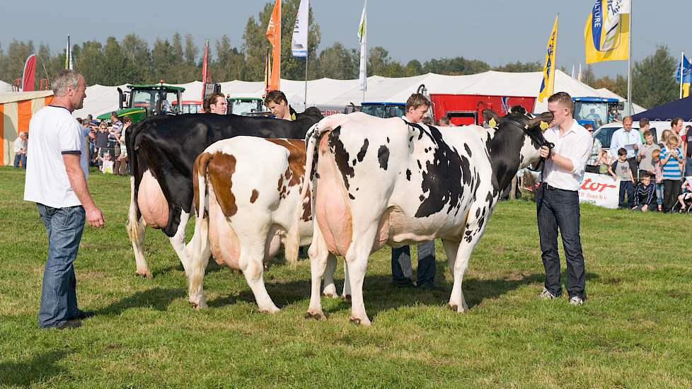
<path id="1" fill-rule="evenodd" d="M 24 199 L 35 202 L 48 234 L 38 325 L 74 328 L 93 315 L 77 308 L 72 263 L 77 257 L 84 219 L 103 226 L 103 214 L 86 186 L 87 171 L 80 156 L 84 132 L 72 116 L 82 108 L 86 81 L 74 70 L 59 71 L 52 83 L 53 103 L 29 122 L 31 163 L 26 170 Z"/>

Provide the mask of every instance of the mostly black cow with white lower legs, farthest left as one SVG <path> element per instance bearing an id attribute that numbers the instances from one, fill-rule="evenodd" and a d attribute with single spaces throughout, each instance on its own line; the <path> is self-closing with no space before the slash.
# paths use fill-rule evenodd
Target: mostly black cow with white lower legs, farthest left
<path id="1" fill-rule="evenodd" d="M 294 122 L 270 117 L 188 114 L 150 117 L 125 132 L 129 151 L 131 197 L 127 231 L 137 274 L 151 278 L 144 260 L 144 230 L 159 228 L 168 236 L 187 271 L 185 226 L 192 209 L 192 164 L 210 144 L 238 135 L 300 138 L 322 119 L 317 108 Z"/>

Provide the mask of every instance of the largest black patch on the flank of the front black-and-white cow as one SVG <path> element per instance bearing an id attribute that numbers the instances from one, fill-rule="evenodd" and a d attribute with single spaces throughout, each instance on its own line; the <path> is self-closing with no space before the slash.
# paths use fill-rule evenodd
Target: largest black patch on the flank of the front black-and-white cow
<path id="1" fill-rule="evenodd" d="M 412 124 L 415 126 L 415 124 Z M 442 133 L 435 127 L 417 126 L 432 141 L 433 158 L 426 162 L 425 173 L 422 173 L 421 189 L 428 196 L 423 200 L 415 217 L 427 217 L 442 211 L 449 206 L 447 213 L 459 206 L 463 198 L 463 187 L 471 183 L 471 169 L 466 156 L 446 144 Z"/>

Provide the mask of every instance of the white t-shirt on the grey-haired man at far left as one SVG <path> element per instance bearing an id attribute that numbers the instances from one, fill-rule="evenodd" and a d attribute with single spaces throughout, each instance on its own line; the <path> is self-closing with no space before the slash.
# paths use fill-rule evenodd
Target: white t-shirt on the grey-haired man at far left
<path id="1" fill-rule="evenodd" d="M 67 108 L 47 106 L 29 122 L 24 199 L 53 208 L 81 205 L 67 178 L 63 154 L 82 154 L 81 126 Z M 83 166 L 82 166 L 83 170 Z M 86 171 L 84 172 L 86 178 Z"/>

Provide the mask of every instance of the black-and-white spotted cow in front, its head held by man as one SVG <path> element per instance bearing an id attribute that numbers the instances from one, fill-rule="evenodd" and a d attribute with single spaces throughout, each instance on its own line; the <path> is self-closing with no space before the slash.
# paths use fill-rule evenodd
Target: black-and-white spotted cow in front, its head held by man
<path id="1" fill-rule="evenodd" d="M 363 280 L 371 252 L 442 238 L 454 277 L 449 307 L 468 309 L 461 279 L 500 192 L 546 144 L 532 118 L 483 111 L 492 127 L 429 127 L 357 112 L 326 117 L 308 132 L 306 177 L 312 177 L 312 290 L 306 318 L 323 318 L 319 287 L 329 253 L 344 255 L 351 320 L 369 325 Z M 547 127 L 546 127 L 547 128 Z M 314 172 L 314 174 L 313 174 Z"/>

